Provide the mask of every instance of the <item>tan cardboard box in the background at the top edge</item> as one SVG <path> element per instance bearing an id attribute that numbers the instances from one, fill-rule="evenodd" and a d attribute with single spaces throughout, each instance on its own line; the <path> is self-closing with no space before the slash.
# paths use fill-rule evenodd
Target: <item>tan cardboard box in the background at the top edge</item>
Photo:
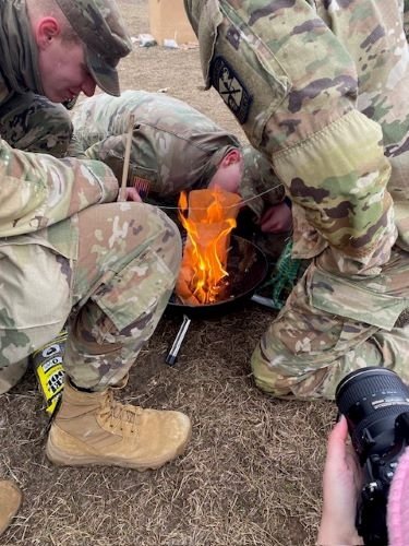
<path id="1" fill-rule="evenodd" d="M 183 0 L 149 0 L 149 33 L 160 46 L 164 39 L 175 39 L 179 45 L 197 43 Z"/>

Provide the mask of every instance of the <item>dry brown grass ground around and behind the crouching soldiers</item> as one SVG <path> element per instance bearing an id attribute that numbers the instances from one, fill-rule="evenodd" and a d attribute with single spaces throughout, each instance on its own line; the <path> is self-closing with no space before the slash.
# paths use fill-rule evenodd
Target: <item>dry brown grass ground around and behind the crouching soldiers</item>
<path id="1" fill-rule="evenodd" d="M 147 0 L 120 0 L 133 36 L 148 32 Z M 197 49 L 135 47 L 122 90 L 188 100 L 243 133 L 218 95 L 203 92 Z M 156 472 L 56 467 L 33 373 L 0 396 L 0 476 L 24 491 L 1 545 L 269 546 L 315 543 L 325 442 L 334 404 L 277 401 L 252 382 L 249 360 L 274 312 L 248 302 L 194 320 L 175 367 L 165 364 L 180 319 L 164 317 L 132 369 L 127 402 L 189 414 L 187 453 Z"/>

